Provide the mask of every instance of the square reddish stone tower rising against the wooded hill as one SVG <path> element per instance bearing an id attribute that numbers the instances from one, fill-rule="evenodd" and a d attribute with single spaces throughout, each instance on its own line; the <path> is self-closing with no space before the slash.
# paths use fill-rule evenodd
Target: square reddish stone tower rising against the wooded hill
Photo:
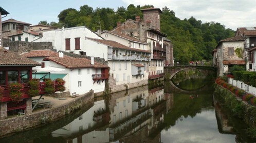
<path id="1" fill-rule="evenodd" d="M 162 11 L 159 8 L 141 9 L 143 12 L 143 23 L 150 28 L 160 31 L 160 14 Z"/>

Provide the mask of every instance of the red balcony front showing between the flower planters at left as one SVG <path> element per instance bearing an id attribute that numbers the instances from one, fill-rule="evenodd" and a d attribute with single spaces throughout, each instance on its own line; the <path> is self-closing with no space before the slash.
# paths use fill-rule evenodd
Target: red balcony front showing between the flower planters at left
<path id="1" fill-rule="evenodd" d="M 23 98 L 22 99 L 30 98 L 28 96 L 29 84 L 28 83 L 22 83 L 22 86 L 23 86 Z M 4 88 L 2 102 L 11 101 L 9 85 L 1 85 L 1 87 Z M 40 93 L 39 93 L 39 95 L 46 94 L 46 92 L 44 91 L 44 88 L 45 88 L 45 82 L 40 82 L 40 87 L 39 87 Z M 57 89 L 56 89 L 56 91 L 57 91 Z"/>

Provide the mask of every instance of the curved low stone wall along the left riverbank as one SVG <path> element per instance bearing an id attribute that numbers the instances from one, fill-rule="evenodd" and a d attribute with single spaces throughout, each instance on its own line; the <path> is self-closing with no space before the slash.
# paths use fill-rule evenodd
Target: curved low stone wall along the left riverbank
<path id="1" fill-rule="evenodd" d="M 92 103 L 93 99 L 94 91 L 89 91 L 83 96 L 79 96 L 78 98 L 75 98 L 61 106 L 52 107 L 31 114 L 7 118 L 6 120 L 0 120 L 0 136 L 26 130 L 45 123 L 50 123 L 77 109 L 80 109 L 82 106 Z"/>

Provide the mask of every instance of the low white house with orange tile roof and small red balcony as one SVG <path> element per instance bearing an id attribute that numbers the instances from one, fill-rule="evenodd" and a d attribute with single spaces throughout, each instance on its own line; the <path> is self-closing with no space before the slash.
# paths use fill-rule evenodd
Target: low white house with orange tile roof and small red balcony
<path id="1" fill-rule="evenodd" d="M 72 58 L 64 56 L 63 52 L 53 52 L 50 50 L 30 51 L 24 56 L 34 61 L 42 63 L 44 67 L 65 69 L 64 71 L 55 71 L 49 74 L 49 78 L 64 75 L 66 81 L 66 91 L 84 94 L 89 90 L 101 92 L 105 89 L 105 80 L 108 78 L 108 66 L 90 61 L 86 58 Z M 54 75 L 57 74 L 57 75 Z M 40 73 L 36 73 L 39 75 Z M 54 80 L 54 79 L 53 79 Z"/>

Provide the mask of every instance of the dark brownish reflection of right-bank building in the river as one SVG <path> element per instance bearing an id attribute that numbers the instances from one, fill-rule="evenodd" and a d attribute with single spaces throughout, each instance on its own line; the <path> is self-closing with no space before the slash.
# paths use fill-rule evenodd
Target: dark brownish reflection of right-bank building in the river
<path id="1" fill-rule="evenodd" d="M 218 124 L 218 129 L 220 133 L 233 133 L 233 127 L 228 125 L 227 115 L 222 111 L 220 104 L 214 100 L 214 107 L 216 113 L 216 119 Z"/>

